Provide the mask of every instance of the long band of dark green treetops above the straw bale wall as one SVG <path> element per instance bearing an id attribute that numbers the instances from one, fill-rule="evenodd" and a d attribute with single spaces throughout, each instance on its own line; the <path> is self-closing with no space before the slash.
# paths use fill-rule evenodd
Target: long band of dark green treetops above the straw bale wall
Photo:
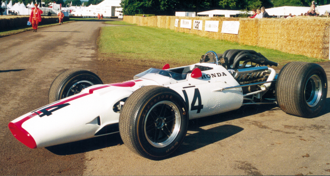
<path id="1" fill-rule="evenodd" d="M 120 5 L 124 15 L 175 15 L 175 12 L 202 12 L 215 9 L 252 10 L 273 7 L 270 0 L 122 0 Z"/>

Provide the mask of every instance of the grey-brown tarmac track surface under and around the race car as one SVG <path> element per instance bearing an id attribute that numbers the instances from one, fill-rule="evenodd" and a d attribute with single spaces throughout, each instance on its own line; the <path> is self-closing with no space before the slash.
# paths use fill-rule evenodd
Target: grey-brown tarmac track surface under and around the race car
<path id="1" fill-rule="evenodd" d="M 64 70 L 88 69 L 104 83 L 113 83 L 164 65 L 133 65 L 126 58 L 97 56 L 96 40 L 103 26 L 107 25 L 99 21 L 70 22 L 0 38 L 0 175 L 330 174 L 329 94 L 321 113 L 312 119 L 268 105 L 190 121 L 182 146 L 161 161 L 132 153 L 118 133 L 47 149 L 21 144 L 8 123 L 48 104 L 49 86 Z M 321 65 L 330 80 L 330 62 Z"/>

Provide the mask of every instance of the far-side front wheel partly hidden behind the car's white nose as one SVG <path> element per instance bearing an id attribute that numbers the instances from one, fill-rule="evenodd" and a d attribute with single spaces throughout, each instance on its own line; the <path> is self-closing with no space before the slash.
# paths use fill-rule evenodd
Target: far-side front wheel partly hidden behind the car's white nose
<path id="1" fill-rule="evenodd" d="M 59 74 L 49 88 L 49 103 L 81 92 L 89 86 L 103 84 L 93 72 L 83 69 L 70 69 Z"/>

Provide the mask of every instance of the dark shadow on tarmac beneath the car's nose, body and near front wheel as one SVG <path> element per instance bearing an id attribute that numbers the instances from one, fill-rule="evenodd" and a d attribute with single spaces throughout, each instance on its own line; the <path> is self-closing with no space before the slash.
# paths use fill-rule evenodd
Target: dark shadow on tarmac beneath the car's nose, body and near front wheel
<path id="1" fill-rule="evenodd" d="M 196 149 L 205 147 L 209 144 L 215 143 L 234 134 L 237 134 L 243 130 L 243 128 L 235 125 L 221 125 L 207 130 L 202 129 L 202 126 L 239 119 L 242 117 L 259 114 L 264 111 L 279 110 L 279 108 L 275 107 L 275 105 L 243 106 L 235 111 L 190 120 L 188 126 L 188 134 L 183 140 L 182 144 L 185 147 L 181 146 L 175 156 L 182 155 L 184 153 L 188 153 Z M 197 131 L 197 133 L 189 134 L 189 131 Z M 46 149 L 56 155 L 72 155 L 122 144 L 123 142 L 120 138 L 120 134 L 115 133 L 91 139 L 85 139 L 77 142 L 50 146 L 46 147 Z"/>

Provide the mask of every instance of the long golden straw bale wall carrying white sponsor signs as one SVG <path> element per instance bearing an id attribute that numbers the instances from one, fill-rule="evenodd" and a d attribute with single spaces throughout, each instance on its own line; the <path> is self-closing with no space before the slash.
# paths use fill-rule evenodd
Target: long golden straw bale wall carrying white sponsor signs
<path id="1" fill-rule="evenodd" d="M 175 20 L 179 19 L 178 27 Z M 180 27 L 180 20 L 192 20 L 191 29 Z M 193 20 L 203 20 L 202 30 L 193 29 Z M 205 31 L 205 21 L 219 21 L 218 32 Z M 172 29 L 177 32 L 238 42 L 244 45 L 275 49 L 286 53 L 329 59 L 330 19 L 316 17 L 295 18 L 223 18 L 223 17 L 132 17 L 124 16 L 124 21 L 140 26 Z M 222 21 L 239 21 L 239 33 L 221 33 Z"/>

